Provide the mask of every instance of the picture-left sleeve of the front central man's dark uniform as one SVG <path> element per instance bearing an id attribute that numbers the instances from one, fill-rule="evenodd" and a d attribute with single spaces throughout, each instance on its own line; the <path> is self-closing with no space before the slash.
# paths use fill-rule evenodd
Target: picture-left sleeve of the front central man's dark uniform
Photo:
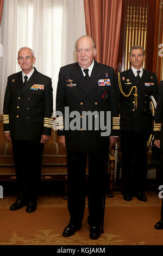
<path id="1" fill-rule="evenodd" d="M 56 125 L 58 136 L 65 135 L 64 113 L 65 113 L 65 86 L 62 68 L 59 71 L 57 94 L 56 94 Z"/>

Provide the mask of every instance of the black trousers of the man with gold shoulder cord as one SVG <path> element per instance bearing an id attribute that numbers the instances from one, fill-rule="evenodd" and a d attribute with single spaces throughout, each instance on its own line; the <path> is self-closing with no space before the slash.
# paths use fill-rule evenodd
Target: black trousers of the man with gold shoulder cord
<path id="1" fill-rule="evenodd" d="M 143 192 L 147 177 L 149 132 L 121 131 L 123 192 Z"/>

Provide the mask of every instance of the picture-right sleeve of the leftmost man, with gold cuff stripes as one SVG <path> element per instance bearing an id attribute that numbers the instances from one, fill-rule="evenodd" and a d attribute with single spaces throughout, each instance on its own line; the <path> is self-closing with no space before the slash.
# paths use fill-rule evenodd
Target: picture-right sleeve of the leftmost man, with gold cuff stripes
<path id="1" fill-rule="evenodd" d="M 46 84 L 45 92 L 43 96 L 44 106 L 44 122 L 43 122 L 43 135 L 51 135 L 53 124 L 53 88 L 52 80 L 49 78 L 49 82 Z"/>

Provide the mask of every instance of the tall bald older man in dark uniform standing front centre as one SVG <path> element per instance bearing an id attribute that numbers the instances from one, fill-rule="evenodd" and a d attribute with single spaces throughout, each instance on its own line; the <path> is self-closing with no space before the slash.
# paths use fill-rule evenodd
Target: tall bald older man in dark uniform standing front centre
<path id="1" fill-rule="evenodd" d="M 60 69 L 57 88 L 56 109 L 60 112 L 57 115 L 57 127 L 59 141 L 67 148 L 70 212 L 70 223 L 62 235 L 71 236 L 82 227 L 88 155 L 87 221 L 90 238 L 98 239 L 101 236 L 106 159 L 109 148 L 117 141 L 114 136 L 118 135 L 119 129 L 115 74 L 113 68 L 94 60 L 97 50 L 90 36 L 84 35 L 77 40 L 76 51 L 78 62 Z M 113 120 L 111 136 L 110 112 Z"/>

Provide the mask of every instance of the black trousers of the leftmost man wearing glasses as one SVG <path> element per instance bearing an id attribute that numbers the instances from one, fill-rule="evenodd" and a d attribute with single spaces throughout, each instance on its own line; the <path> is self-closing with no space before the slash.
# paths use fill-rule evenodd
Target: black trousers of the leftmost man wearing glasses
<path id="1" fill-rule="evenodd" d="M 18 199 L 37 200 L 44 144 L 12 141 Z"/>

